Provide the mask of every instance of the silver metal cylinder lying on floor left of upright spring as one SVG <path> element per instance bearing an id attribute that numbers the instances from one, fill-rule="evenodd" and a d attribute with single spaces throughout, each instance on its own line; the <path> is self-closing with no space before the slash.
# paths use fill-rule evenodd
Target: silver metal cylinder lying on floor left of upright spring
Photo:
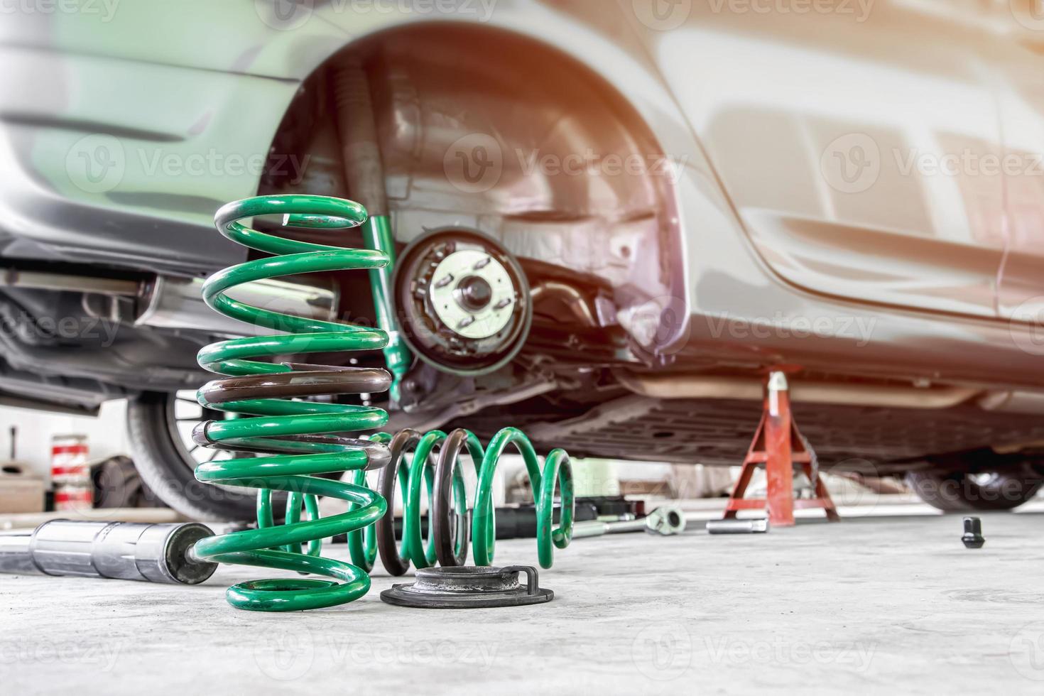
<path id="1" fill-rule="evenodd" d="M 198 584 L 217 563 L 190 553 L 206 525 L 51 520 L 0 534 L 0 573 L 75 575 Z"/>

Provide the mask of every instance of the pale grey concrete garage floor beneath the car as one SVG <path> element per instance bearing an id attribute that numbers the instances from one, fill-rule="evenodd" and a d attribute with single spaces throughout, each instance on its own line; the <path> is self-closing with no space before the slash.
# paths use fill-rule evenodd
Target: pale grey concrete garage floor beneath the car
<path id="1" fill-rule="evenodd" d="M 9 694 L 1035 693 L 1044 690 L 1040 512 L 802 521 L 756 536 L 578 539 L 531 607 L 438 611 L 362 600 L 237 611 L 223 568 L 196 587 L 0 576 Z M 532 562 L 532 541 L 497 558 Z M 345 547 L 334 547 L 341 555 Z M 262 571 L 261 576 L 264 576 Z M 401 581 L 401 580 L 397 580 Z M 319 693 L 319 692 L 313 692 Z"/>

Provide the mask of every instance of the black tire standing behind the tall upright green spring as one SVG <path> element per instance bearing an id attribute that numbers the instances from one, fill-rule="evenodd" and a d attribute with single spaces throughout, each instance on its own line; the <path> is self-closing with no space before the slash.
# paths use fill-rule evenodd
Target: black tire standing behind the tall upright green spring
<path id="1" fill-rule="evenodd" d="M 254 493 L 195 480 L 198 461 L 179 430 L 177 399 L 174 393 L 146 391 L 127 404 L 127 432 L 142 480 L 160 500 L 192 520 L 254 519 Z"/>

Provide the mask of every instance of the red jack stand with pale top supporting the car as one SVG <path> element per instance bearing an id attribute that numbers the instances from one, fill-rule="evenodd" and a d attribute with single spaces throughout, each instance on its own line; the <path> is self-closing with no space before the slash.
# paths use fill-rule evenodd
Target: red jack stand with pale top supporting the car
<path id="1" fill-rule="evenodd" d="M 837 508 L 830 500 L 818 471 L 815 471 L 818 466 L 813 466 L 814 456 L 810 448 L 805 446 L 805 439 L 790 414 L 790 392 L 786 375 L 781 371 L 769 373 L 761 423 L 758 424 L 751 449 L 743 460 L 743 471 L 729 497 L 725 519 L 734 520 L 738 510 L 760 510 L 767 507 L 769 525 L 792 527 L 796 507 L 822 507 L 830 522 L 839 522 Z M 743 494 L 759 464 L 765 465 L 767 498 L 744 499 Z M 794 464 L 800 464 L 805 476 L 812 482 L 815 498 L 793 499 Z"/>

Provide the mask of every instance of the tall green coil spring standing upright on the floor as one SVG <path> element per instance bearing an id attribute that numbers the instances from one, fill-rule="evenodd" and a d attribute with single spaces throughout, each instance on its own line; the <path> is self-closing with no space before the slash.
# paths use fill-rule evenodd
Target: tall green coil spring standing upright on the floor
<path id="1" fill-rule="evenodd" d="M 359 203 L 325 196 L 258 196 L 229 203 L 214 218 L 218 231 L 228 239 L 274 256 L 215 273 L 204 285 L 204 299 L 229 317 L 286 333 L 213 343 L 197 356 L 204 368 L 226 376 L 198 391 L 199 404 L 233 415 L 199 424 L 193 433 L 195 441 L 266 456 L 213 461 L 196 467 L 199 481 L 258 488 L 258 527 L 201 539 L 193 553 L 220 562 L 333 578 L 253 580 L 233 585 L 227 593 L 229 602 L 238 608 L 292 611 L 342 604 L 366 594 L 366 572 L 376 553 L 371 525 L 387 508 L 384 498 L 364 485 L 366 470 L 381 467 L 388 460 L 387 449 L 339 434 L 379 429 L 387 422 L 387 413 L 380 408 L 302 399 L 383 391 L 390 385 L 392 376 L 383 369 L 265 362 L 256 358 L 381 350 L 388 338 L 379 330 L 255 307 L 230 297 L 228 292 L 262 279 L 381 268 L 388 259 L 376 250 L 295 241 L 243 223 L 246 218 L 270 215 L 283 216 L 285 227 L 343 230 L 362 224 L 366 211 Z M 345 472 L 355 472 L 351 483 L 322 476 Z M 282 525 L 275 524 L 272 490 L 289 494 Z M 348 501 L 348 512 L 321 519 L 319 496 Z M 364 531 L 367 527 L 369 532 Z M 349 534 L 352 544 L 351 563 L 321 555 L 322 539 L 342 533 Z"/>

